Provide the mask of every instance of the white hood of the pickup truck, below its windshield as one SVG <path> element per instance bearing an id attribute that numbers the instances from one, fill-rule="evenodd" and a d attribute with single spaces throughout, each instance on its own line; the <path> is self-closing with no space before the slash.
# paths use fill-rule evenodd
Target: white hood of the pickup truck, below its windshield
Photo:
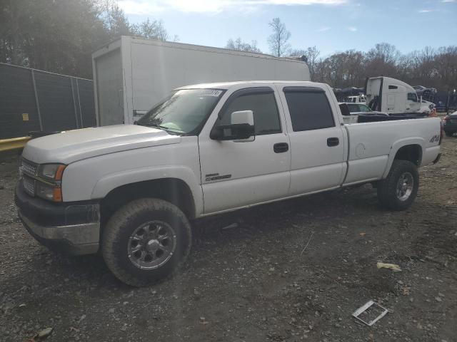
<path id="1" fill-rule="evenodd" d="M 84 128 L 47 135 L 27 142 L 22 156 L 31 162 L 62 162 L 106 155 L 136 148 L 176 144 L 179 135 L 139 125 Z"/>

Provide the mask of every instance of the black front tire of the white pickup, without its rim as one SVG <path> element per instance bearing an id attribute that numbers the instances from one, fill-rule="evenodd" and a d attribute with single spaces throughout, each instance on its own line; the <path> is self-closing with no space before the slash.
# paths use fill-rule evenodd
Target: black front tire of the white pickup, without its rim
<path id="1" fill-rule="evenodd" d="M 168 223 L 176 232 L 176 249 L 165 264 L 156 269 L 140 269 L 129 259 L 129 237 L 151 220 Z M 191 224 L 174 204 L 163 199 L 143 198 L 125 204 L 109 219 L 101 240 L 102 254 L 114 276 L 131 286 L 146 286 L 171 276 L 181 266 L 191 249 Z"/>

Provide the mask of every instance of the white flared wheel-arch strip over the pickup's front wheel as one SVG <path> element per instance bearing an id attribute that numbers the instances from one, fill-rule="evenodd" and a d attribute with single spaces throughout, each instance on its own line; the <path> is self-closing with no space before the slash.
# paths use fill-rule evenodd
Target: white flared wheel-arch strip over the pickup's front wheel
<path id="1" fill-rule="evenodd" d="M 106 197 L 111 190 L 122 185 L 129 185 L 147 180 L 160 180 L 164 178 L 176 178 L 189 186 L 194 197 L 196 217 L 203 212 L 203 193 L 196 175 L 190 167 L 174 165 L 173 167 L 141 167 L 135 170 L 124 170 L 111 173 L 102 177 L 92 190 L 91 199 Z"/>

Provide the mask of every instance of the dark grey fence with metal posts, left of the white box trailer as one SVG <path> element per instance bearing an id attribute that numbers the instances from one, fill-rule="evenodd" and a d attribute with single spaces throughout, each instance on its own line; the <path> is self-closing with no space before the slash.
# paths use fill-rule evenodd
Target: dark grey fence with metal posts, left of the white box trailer
<path id="1" fill-rule="evenodd" d="M 95 125 L 91 80 L 0 63 L 0 139 Z"/>

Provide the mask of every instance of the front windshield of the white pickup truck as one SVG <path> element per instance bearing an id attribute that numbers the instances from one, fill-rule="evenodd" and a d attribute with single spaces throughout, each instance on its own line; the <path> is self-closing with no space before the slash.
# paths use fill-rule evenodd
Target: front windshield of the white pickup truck
<path id="1" fill-rule="evenodd" d="M 151 108 L 136 124 L 160 128 L 172 134 L 198 134 L 224 91 L 220 89 L 175 90 Z"/>

